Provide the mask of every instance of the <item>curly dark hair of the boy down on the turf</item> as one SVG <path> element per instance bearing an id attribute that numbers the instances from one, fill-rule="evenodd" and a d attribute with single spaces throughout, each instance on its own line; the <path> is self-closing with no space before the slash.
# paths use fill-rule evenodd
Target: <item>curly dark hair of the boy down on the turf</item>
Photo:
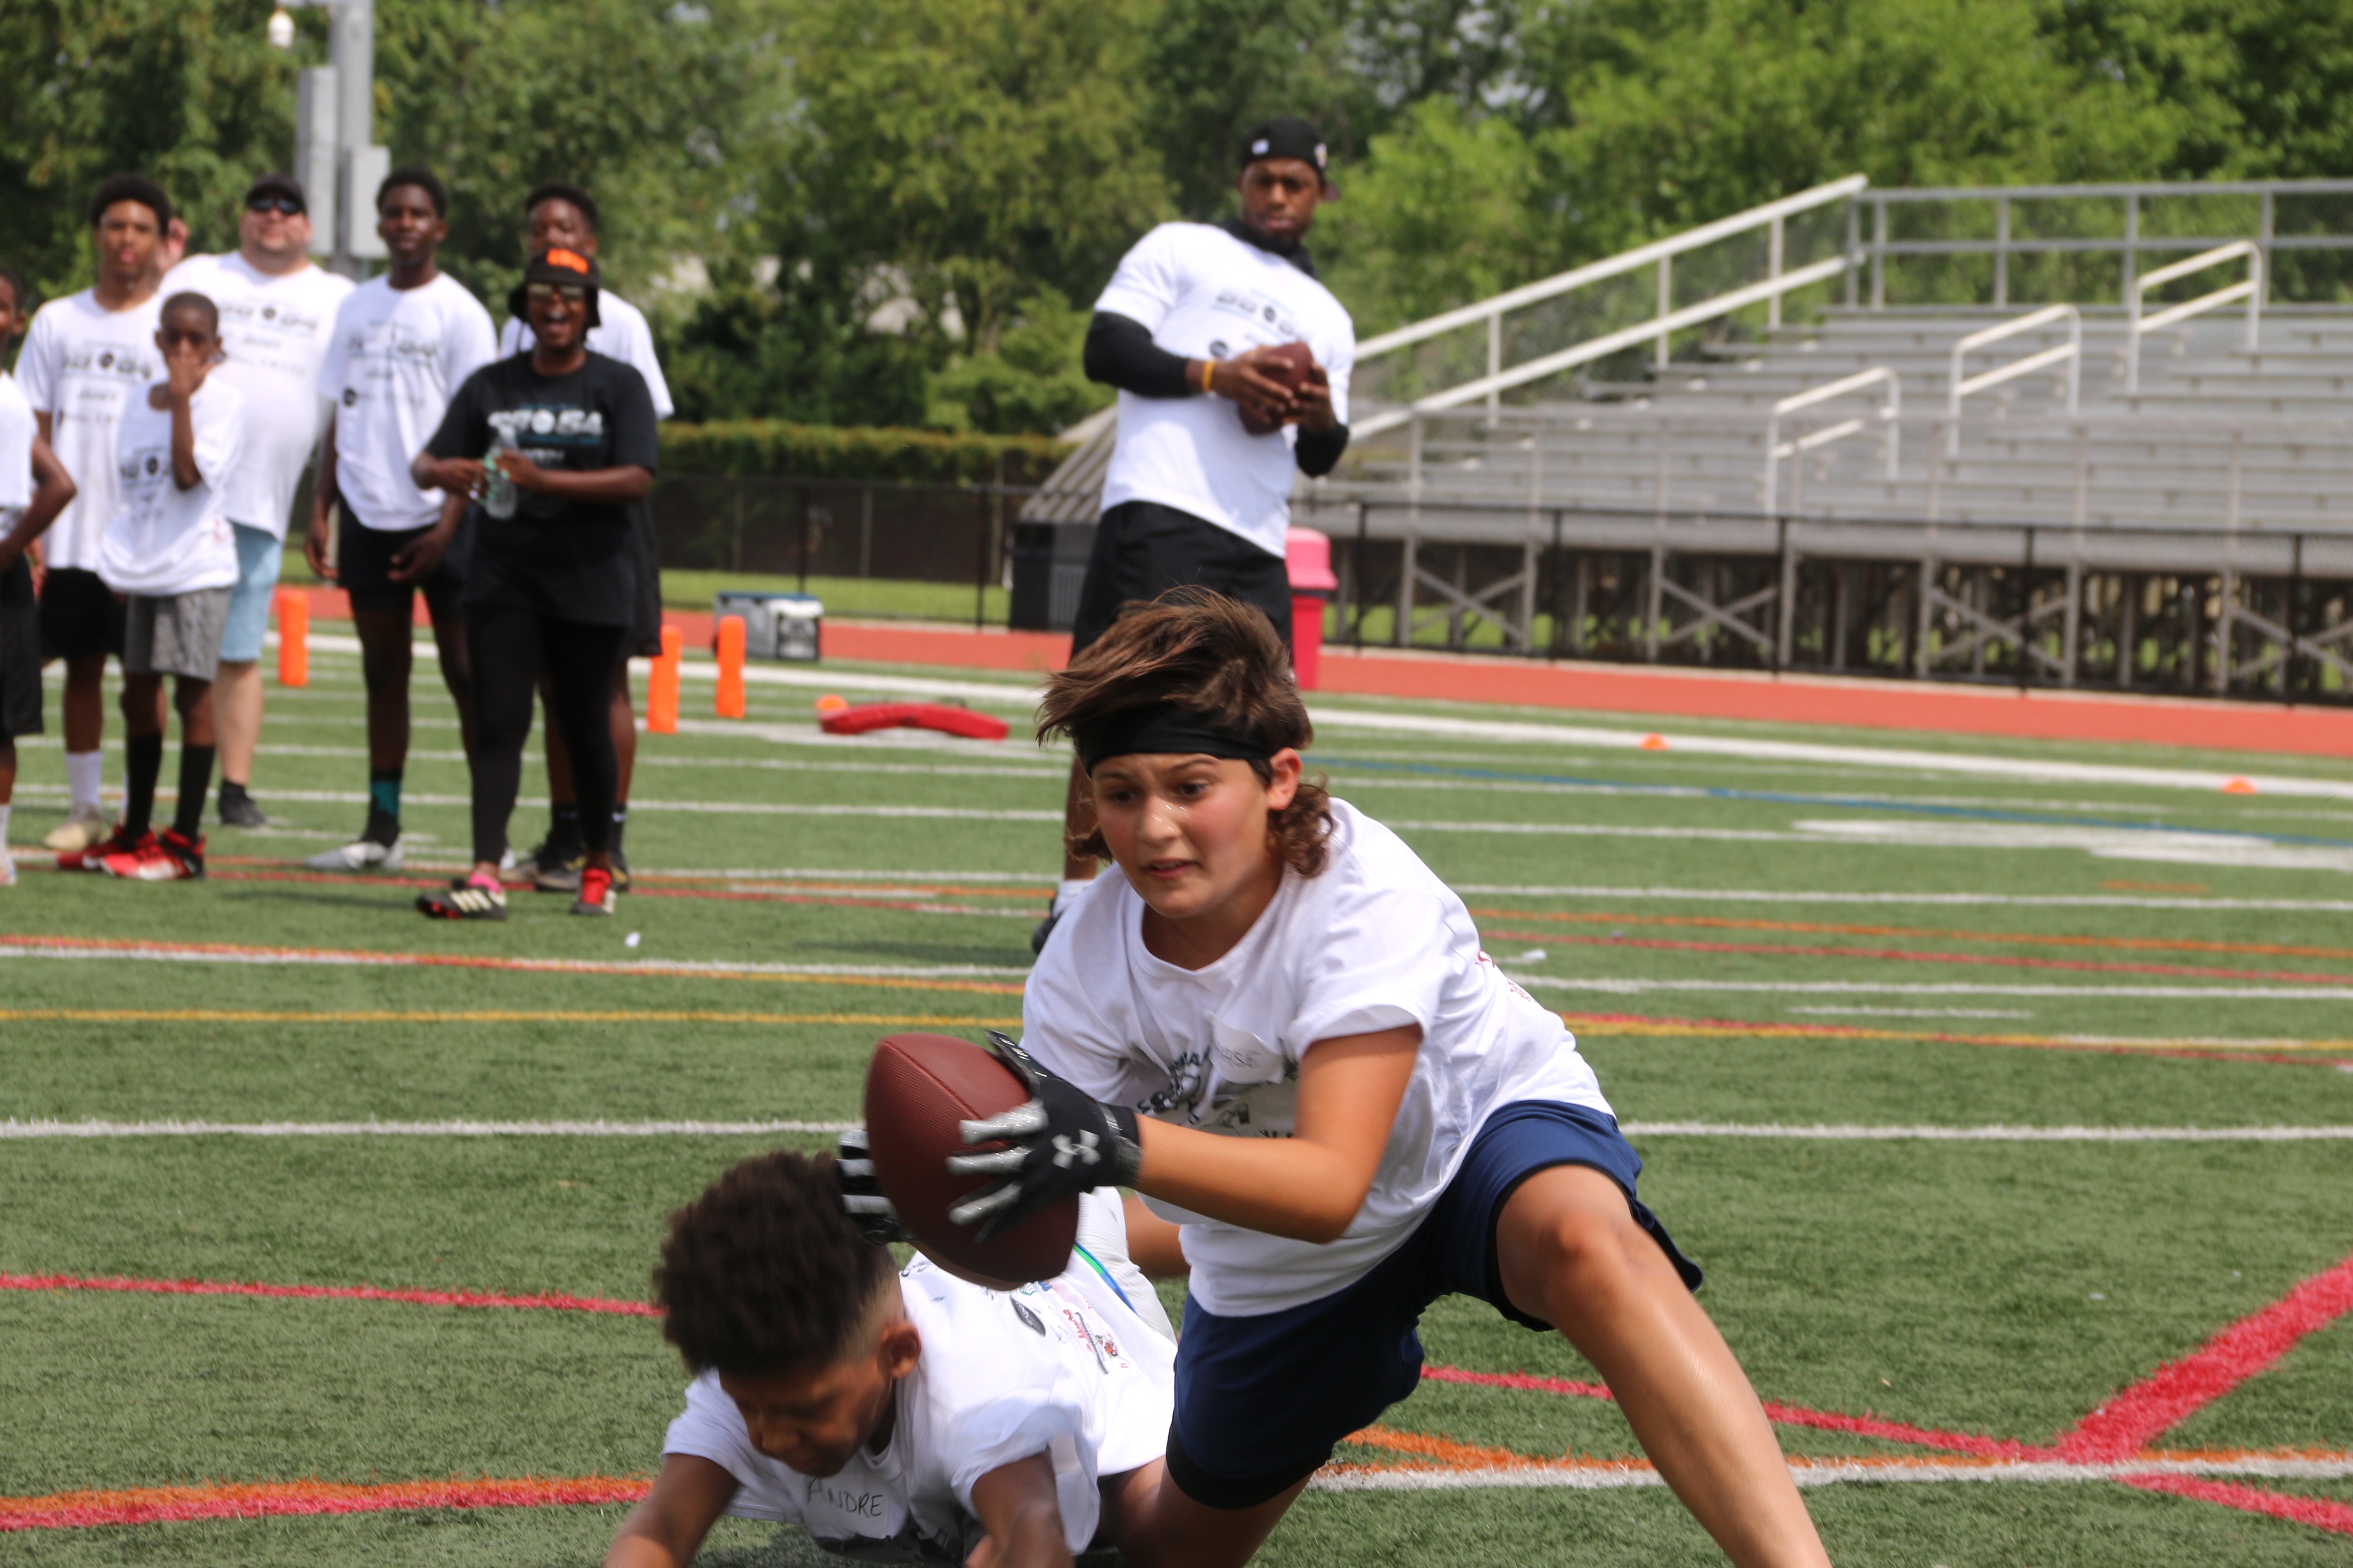
<path id="1" fill-rule="evenodd" d="M 805 1371 L 854 1349 L 894 1274 L 842 1213 L 833 1157 L 779 1150 L 671 1215 L 654 1300 L 687 1371 Z"/>

